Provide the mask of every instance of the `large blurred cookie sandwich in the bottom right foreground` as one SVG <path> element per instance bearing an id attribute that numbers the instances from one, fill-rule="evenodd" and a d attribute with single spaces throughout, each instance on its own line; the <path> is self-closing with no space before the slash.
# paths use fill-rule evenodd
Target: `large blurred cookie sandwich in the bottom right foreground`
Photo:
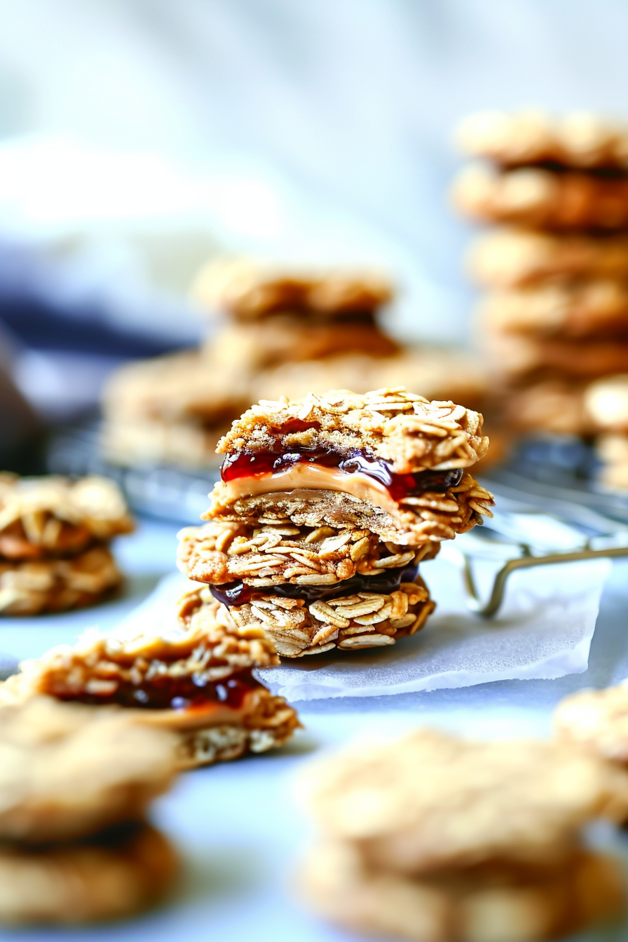
<path id="1" fill-rule="evenodd" d="M 532 942 L 623 911 L 623 869 L 581 832 L 621 820 L 628 774 L 569 743 L 417 731 L 328 759 L 300 792 L 321 839 L 299 895 L 349 931 Z"/>

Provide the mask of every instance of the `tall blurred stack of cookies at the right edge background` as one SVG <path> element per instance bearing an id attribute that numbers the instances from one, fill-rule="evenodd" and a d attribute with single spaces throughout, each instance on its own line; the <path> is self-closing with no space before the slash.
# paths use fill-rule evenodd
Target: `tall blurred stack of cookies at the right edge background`
<path id="1" fill-rule="evenodd" d="M 520 430 L 586 434 L 584 386 L 628 369 L 628 130 L 593 115 L 478 114 L 459 210 L 500 228 L 471 271 L 479 332 Z"/>

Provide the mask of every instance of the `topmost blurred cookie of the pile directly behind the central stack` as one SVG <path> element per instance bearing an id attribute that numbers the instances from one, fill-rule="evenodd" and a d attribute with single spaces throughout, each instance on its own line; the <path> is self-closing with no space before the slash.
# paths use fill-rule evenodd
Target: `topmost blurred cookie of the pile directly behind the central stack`
<path id="1" fill-rule="evenodd" d="M 201 269 L 192 296 L 202 306 L 240 320 L 282 311 L 338 317 L 372 313 L 391 300 L 393 287 L 374 273 L 315 274 L 277 270 L 248 258 L 227 258 Z"/>

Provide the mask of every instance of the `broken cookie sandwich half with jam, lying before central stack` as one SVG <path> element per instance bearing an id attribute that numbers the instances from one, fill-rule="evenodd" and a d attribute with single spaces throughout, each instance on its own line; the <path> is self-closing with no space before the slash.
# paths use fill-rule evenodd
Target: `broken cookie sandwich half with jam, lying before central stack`
<path id="1" fill-rule="evenodd" d="M 282 697 L 251 674 L 279 663 L 261 628 L 240 629 L 217 602 L 160 634 L 88 632 L 73 647 L 24 661 L 6 696 L 46 693 L 99 707 L 126 707 L 137 722 L 175 733 L 180 768 L 265 752 L 298 727 Z M 0 685 L 1 686 L 1 685 Z"/>

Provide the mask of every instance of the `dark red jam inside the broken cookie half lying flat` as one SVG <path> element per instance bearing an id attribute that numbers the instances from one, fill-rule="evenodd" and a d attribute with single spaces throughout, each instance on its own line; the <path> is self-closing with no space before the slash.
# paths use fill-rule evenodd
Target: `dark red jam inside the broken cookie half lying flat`
<path id="1" fill-rule="evenodd" d="M 258 683 L 248 671 L 240 671 L 224 680 L 203 683 L 202 677 L 153 677 L 146 684 L 131 684 L 121 681 L 114 693 L 99 695 L 82 693 L 78 696 L 64 691 L 51 690 L 59 700 L 78 700 L 84 704 L 101 706 L 117 704 L 121 707 L 142 707 L 144 709 L 201 709 L 210 703 L 223 704 L 225 707 L 238 709 L 250 690 L 263 685 Z"/>

